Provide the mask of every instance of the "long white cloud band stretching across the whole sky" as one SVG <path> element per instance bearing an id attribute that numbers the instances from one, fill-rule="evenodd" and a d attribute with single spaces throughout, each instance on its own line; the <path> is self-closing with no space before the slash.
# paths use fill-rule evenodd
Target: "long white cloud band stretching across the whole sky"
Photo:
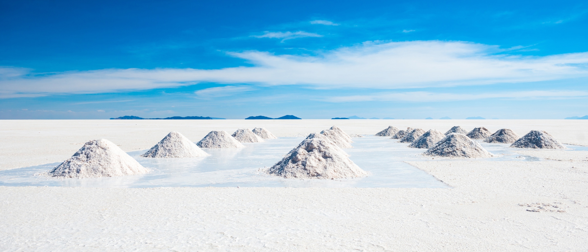
<path id="1" fill-rule="evenodd" d="M 395 89 L 588 76 L 588 52 L 534 57 L 505 54 L 505 50 L 492 45 L 455 41 L 365 42 L 318 52 L 316 56 L 259 51 L 229 55 L 246 59 L 253 67 L 100 69 L 48 74 L 8 71 L 11 74 L 0 77 L 0 97 L 92 94 L 198 82 Z"/>

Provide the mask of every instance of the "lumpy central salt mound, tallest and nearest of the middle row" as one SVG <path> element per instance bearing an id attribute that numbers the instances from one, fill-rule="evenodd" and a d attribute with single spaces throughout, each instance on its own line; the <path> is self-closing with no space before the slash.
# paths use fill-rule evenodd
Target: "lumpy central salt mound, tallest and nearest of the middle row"
<path id="1" fill-rule="evenodd" d="M 347 157 L 345 151 L 320 137 L 306 138 L 265 172 L 284 178 L 335 179 L 368 175 Z"/>

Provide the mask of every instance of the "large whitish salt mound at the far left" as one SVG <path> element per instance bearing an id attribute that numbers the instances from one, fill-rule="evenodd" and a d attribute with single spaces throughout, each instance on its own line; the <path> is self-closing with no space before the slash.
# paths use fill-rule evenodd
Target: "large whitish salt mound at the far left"
<path id="1" fill-rule="evenodd" d="M 53 170 L 51 177 L 99 178 L 149 173 L 129 154 L 106 139 L 86 142 L 71 158 Z"/>

